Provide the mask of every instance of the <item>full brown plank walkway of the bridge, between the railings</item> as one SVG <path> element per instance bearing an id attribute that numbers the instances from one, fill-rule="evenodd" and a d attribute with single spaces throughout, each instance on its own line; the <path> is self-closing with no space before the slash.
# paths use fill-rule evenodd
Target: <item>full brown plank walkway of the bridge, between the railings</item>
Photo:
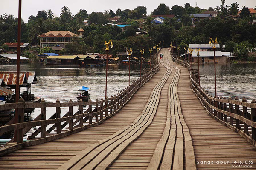
<path id="1" fill-rule="evenodd" d="M 118 114 L 99 126 L 0 157 L 0 170 L 256 169 L 256 148 L 210 117 L 190 88 L 187 69 L 172 62 L 167 48 L 161 53 L 160 71 Z"/>

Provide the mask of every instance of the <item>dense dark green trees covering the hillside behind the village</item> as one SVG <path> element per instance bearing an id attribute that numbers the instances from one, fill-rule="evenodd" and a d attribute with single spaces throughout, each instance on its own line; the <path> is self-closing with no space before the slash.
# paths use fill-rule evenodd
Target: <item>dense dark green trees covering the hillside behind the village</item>
<path id="1" fill-rule="evenodd" d="M 117 9 L 114 11 L 92 12 L 80 9 L 73 15 L 67 6 L 61 8 L 59 17 L 53 16 L 51 9 L 38 11 L 36 17 L 31 15 L 28 23 L 22 22 L 21 42 L 29 42 L 30 45 L 38 45 L 38 35 L 52 30 L 68 30 L 77 34 L 79 28 L 84 29 L 84 38 L 74 38 L 73 42 L 66 45 L 66 49 L 59 54 L 84 54 L 86 52 L 105 53 L 104 40 L 113 40 L 114 48 L 111 54 L 123 51 L 123 48 L 133 48 L 134 55 L 139 55 L 139 49 L 144 48 L 145 54 L 149 56 L 149 48 L 164 41 L 164 45 L 180 46 L 180 53 L 184 52 L 189 43 L 209 43 L 209 37 L 218 38 L 221 44 L 226 44 L 226 51 L 234 52 L 239 59 L 250 60 L 248 53 L 253 51 L 256 45 L 256 25 L 251 21 L 256 17 L 250 15 L 250 11 L 243 6 L 239 18 L 227 17 L 227 14 L 236 15 L 239 4 L 231 3 L 230 6 L 221 0 L 221 5 L 215 8 L 209 7 L 209 11 L 219 12 L 218 17 L 211 20 L 201 19 L 192 23 L 190 14 L 201 14 L 207 9 L 192 7 L 190 3 L 183 6 L 174 5 L 172 8 L 161 3 L 152 15 L 174 14 L 174 18 L 165 18 L 164 24 L 156 25 L 151 16 L 146 17 L 147 8 L 138 6 L 133 10 Z M 118 26 L 103 26 L 108 23 L 108 18 L 120 16 L 119 21 L 131 24 L 123 30 Z M 143 18 L 143 19 L 142 19 Z M 177 18 L 181 22 L 177 22 Z M 84 26 L 84 20 L 88 20 L 90 26 Z M 193 26 L 192 26 L 193 25 Z M 138 28 L 146 31 L 146 35 L 136 35 Z M 0 45 L 5 42 L 17 41 L 17 18 L 13 15 L 4 14 L 0 16 Z M 253 48 L 254 47 L 254 48 Z M 7 49 L 6 46 L 0 48 Z M 51 48 L 37 49 L 38 52 L 49 51 Z M 8 50 L 8 49 L 7 49 Z M 50 51 L 52 52 L 52 51 Z M 29 56 L 28 56 L 29 57 Z"/>

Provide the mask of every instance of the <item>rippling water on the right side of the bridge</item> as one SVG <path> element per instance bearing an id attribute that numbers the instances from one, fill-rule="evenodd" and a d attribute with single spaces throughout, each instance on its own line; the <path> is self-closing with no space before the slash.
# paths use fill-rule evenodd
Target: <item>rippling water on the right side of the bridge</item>
<path id="1" fill-rule="evenodd" d="M 193 65 L 197 68 L 197 65 Z M 201 86 L 212 96 L 215 95 L 214 65 L 200 66 Z M 223 97 L 243 97 L 247 102 L 256 99 L 256 63 L 217 64 L 216 65 L 217 95 Z"/>

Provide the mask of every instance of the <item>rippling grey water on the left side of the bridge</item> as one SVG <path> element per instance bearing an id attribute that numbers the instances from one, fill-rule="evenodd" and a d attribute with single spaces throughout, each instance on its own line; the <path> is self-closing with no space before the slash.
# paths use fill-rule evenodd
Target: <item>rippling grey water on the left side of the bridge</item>
<path id="1" fill-rule="evenodd" d="M 0 71 L 16 71 L 16 65 L 0 65 Z M 82 86 L 91 88 L 90 99 L 105 98 L 105 67 L 91 68 L 61 68 L 60 66 L 45 66 L 40 63 L 23 64 L 20 71 L 35 71 L 38 83 L 32 85 L 31 91 L 36 97 L 46 102 L 76 102 L 78 89 Z M 131 82 L 140 77 L 140 65 L 131 65 Z M 108 67 L 108 96 L 117 94 L 128 86 L 128 65 L 109 65 Z M 21 88 L 20 91 L 26 90 Z M 74 113 L 79 110 L 74 107 Z M 68 108 L 61 108 L 61 116 Z M 55 108 L 47 108 L 47 119 L 55 113 Z M 31 120 L 40 114 L 40 109 L 31 113 Z"/>

